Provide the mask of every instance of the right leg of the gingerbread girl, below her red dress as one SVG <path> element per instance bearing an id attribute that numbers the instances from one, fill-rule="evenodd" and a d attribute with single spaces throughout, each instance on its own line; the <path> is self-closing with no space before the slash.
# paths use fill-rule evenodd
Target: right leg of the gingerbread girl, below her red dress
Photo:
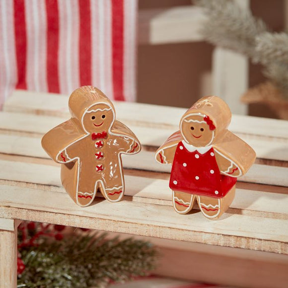
<path id="1" fill-rule="evenodd" d="M 199 208 L 206 218 L 215 220 L 227 211 L 235 196 L 235 185 L 223 198 L 198 196 Z"/>

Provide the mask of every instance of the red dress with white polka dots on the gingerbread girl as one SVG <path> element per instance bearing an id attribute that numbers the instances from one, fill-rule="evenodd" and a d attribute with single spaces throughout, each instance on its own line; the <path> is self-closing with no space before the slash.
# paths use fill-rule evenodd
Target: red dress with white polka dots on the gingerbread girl
<path id="1" fill-rule="evenodd" d="M 169 183 L 173 191 L 222 198 L 236 181 L 236 177 L 220 174 L 212 146 L 204 153 L 198 150 L 190 152 L 179 142 Z"/>

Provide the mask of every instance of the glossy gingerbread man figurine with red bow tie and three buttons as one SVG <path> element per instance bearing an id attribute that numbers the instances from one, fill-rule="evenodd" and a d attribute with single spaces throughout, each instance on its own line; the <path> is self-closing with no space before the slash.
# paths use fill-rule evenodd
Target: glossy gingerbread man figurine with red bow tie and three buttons
<path id="1" fill-rule="evenodd" d="M 42 138 L 49 156 L 61 165 L 61 180 L 72 200 L 85 207 L 97 191 L 111 202 L 124 196 L 121 154 L 136 154 L 134 133 L 115 120 L 112 102 L 97 88 L 82 86 L 69 98 L 71 119 Z"/>

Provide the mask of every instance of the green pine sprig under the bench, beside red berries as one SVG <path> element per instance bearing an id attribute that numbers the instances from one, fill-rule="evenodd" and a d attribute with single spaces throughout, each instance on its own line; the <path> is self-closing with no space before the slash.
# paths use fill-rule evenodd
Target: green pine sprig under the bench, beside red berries
<path id="1" fill-rule="evenodd" d="M 47 239 L 37 247 L 21 248 L 20 254 L 25 269 L 18 275 L 19 288 L 102 288 L 110 281 L 147 275 L 157 259 L 149 242 L 99 233 Z"/>

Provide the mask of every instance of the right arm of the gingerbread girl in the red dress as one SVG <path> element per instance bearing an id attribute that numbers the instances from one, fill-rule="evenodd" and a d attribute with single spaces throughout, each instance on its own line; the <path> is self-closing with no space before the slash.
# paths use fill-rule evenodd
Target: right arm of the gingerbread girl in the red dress
<path id="1" fill-rule="evenodd" d="M 221 174 L 224 174 L 230 177 L 240 177 L 244 174 L 240 166 L 237 165 L 235 161 L 231 160 L 230 158 L 228 158 L 226 155 L 216 150 L 215 148 L 214 148 L 214 151 L 215 151 L 216 161 L 217 161 Z"/>

